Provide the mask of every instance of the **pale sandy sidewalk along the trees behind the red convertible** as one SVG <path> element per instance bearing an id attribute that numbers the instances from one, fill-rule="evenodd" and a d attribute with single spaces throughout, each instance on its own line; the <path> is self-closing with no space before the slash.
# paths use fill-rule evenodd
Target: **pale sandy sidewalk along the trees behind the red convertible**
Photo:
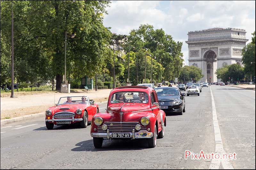
<path id="1" fill-rule="evenodd" d="M 35 113 L 45 112 L 48 107 L 52 107 L 58 102 L 60 97 L 66 96 L 88 96 L 95 103 L 107 101 L 109 93 L 112 89 L 102 89 L 89 92 L 74 92 L 74 93 L 43 93 L 34 95 L 21 95 L 15 98 L 1 97 L 0 100 L 0 115 L 2 119 L 10 119 L 17 116 L 30 115 Z M 15 96 L 15 93 L 14 93 Z"/>

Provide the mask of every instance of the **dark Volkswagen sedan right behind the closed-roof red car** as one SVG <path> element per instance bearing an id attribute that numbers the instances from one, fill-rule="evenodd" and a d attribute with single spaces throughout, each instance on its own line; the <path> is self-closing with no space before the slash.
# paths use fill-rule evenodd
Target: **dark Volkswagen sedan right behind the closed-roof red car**
<path id="1" fill-rule="evenodd" d="M 157 87 L 158 104 L 165 112 L 178 112 L 182 115 L 185 112 L 185 93 L 181 93 L 177 87 Z"/>

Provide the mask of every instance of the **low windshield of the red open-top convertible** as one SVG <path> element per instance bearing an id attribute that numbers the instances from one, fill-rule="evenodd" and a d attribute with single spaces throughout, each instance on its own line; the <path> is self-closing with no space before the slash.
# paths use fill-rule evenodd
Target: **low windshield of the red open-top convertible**
<path id="1" fill-rule="evenodd" d="M 68 96 L 68 97 L 61 97 L 58 102 L 58 105 L 70 104 L 70 103 L 90 104 L 90 101 L 87 96 Z"/>

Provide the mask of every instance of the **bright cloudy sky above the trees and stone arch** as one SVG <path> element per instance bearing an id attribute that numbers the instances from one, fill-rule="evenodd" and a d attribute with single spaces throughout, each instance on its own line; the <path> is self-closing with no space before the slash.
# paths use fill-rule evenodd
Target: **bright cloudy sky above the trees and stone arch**
<path id="1" fill-rule="evenodd" d="M 182 41 L 183 63 L 188 65 L 188 32 L 209 28 L 244 29 L 246 44 L 255 31 L 255 1 L 111 1 L 103 24 L 116 34 L 129 35 L 141 24 L 162 28 Z"/>

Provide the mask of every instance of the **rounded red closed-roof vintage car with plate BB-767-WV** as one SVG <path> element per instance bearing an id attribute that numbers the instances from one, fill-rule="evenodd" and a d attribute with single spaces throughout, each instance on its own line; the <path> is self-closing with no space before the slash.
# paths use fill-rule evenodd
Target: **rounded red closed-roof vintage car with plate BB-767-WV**
<path id="1" fill-rule="evenodd" d="M 156 136 L 164 137 L 166 118 L 158 106 L 156 91 L 145 86 L 124 86 L 112 90 L 105 113 L 93 116 L 91 137 L 95 148 L 103 139 L 146 139 L 156 146 Z"/>

